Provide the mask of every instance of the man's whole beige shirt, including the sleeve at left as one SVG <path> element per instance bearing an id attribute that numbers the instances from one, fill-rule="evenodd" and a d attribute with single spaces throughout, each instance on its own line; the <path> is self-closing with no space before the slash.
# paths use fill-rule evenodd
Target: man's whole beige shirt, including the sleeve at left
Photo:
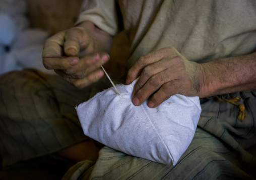
<path id="1" fill-rule="evenodd" d="M 254 0 L 88 0 L 78 23 L 84 20 L 112 36 L 123 27 L 131 43 L 128 67 L 168 46 L 199 63 L 256 50 Z"/>

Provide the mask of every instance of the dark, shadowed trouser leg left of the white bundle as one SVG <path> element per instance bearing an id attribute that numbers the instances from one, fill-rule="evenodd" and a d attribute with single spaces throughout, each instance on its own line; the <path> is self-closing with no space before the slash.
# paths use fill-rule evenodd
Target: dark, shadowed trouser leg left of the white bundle
<path id="1" fill-rule="evenodd" d="M 88 139 L 75 106 L 88 100 L 57 75 L 28 69 L 0 76 L 0 155 L 3 166 L 56 152 Z"/>

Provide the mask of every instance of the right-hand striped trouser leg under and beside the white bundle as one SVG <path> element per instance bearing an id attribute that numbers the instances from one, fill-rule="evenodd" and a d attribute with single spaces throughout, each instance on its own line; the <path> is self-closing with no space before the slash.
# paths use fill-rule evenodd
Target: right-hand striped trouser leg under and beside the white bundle
<path id="1" fill-rule="evenodd" d="M 254 179 L 256 174 L 256 107 L 253 93 L 232 94 L 245 105 L 246 117 L 237 120 L 238 107 L 216 98 L 202 100 L 202 114 L 194 139 L 175 166 L 126 155 L 109 147 L 100 150 L 94 165 L 80 162 L 80 175 L 68 171 L 63 179 Z M 232 98 L 232 97 L 228 97 Z M 88 170 L 90 169 L 90 170 Z"/>

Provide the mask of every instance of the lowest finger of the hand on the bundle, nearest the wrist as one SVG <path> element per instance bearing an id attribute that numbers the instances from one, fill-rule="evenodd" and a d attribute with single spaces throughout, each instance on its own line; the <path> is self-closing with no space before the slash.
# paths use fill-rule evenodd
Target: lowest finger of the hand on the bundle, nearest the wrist
<path id="1" fill-rule="evenodd" d="M 155 108 L 169 99 L 171 96 L 178 94 L 181 88 L 179 80 L 173 80 L 165 83 L 148 101 L 148 107 Z"/>

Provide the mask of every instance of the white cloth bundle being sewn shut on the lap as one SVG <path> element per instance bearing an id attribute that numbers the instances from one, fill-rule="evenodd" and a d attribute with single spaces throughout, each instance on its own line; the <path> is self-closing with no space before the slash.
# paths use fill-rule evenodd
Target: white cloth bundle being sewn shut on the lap
<path id="1" fill-rule="evenodd" d="M 104 90 L 77 107 L 85 135 L 113 149 L 175 165 L 194 137 L 199 97 L 171 96 L 156 108 L 132 103 L 136 81 Z"/>

